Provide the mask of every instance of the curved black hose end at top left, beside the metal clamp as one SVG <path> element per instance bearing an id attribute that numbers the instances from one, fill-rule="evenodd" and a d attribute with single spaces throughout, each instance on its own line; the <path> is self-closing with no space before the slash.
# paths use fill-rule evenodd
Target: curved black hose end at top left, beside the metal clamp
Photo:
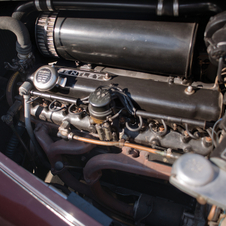
<path id="1" fill-rule="evenodd" d="M 35 5 L 33 2 L 27 2 L 23 5 L 17 7 L 17 9 L 13 12 L 12 18 L 17 20 L 22 20 L 29 14 L 36 11 Z"/>

